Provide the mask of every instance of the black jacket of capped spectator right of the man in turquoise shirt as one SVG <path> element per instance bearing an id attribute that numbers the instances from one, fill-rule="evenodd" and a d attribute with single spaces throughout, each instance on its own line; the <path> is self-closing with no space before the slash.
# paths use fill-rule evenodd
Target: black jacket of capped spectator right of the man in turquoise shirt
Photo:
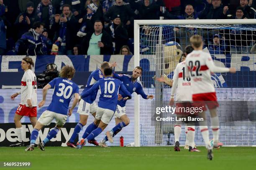
<path id="1" fill-rule="evenodd" d="M 107 28 L 107 32 L 109 33 L 109 35 L 112 35 L 112 31 L 110 27 L 112 27 L 112 23 L 110 23 Z M 115 42 L 114 54 L 119 54 L 121 47 L 123 47 L 123 45 L 127 45 L 127 41 L 128 41 L 127 30 L 123 28 L 122 24 L 120 25 L 114 24 L 114 37 L 113 37 L 113 42 Z"/>

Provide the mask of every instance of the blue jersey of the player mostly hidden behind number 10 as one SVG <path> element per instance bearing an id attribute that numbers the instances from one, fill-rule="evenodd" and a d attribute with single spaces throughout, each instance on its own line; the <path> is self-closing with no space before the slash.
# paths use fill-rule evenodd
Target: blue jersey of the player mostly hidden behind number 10
<path id="1" fill-rule="evenodd" d="M 102 79 L 103 78 L 103 74 L 102 74 L 102 71 L 100 69 L 97 69 L 97 70 L 94 70 L 91 75 L 89 76 L 88 78 L 88 81 L 87 81 L 87 84 L 83 90 L 83 92 L 89 90 L 92 85 L 95 84 L 95 82 L 97 82 L 98 80 Z M 82 93 L 83 93 L 82 92 Z M 94 102 L 94 100 L 96 99 L 97 97 L 97 91 L 95 92 L 92 92 L 92 94 L 90 94 L 89 96 L 87 97 L 84 97 L 82 98 L 85 102 L 88 102 L 90 104 L 92 104 L 92 102 Z"/>

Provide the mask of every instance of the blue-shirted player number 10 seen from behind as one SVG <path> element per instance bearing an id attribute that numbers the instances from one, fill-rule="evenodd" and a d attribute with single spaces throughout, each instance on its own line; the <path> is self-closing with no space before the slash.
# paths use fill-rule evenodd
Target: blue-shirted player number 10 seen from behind
<path id="1" fill-rule="evenodd" d="M 81 97 L 83 98 L 90 95 L 92 92 L 97 92 L 98 90 L 100 90 L 100 100 L 98 102 L 99 107 L 97 109 L 94 120 L 94 125 L 98 126 L 95 130 L 92 130 L 91 132 L 87 131 L 89 135 L 86 138 L 82 138 L 80 141 L 78 141 L 77 149 L 82 149 L 87 141 L 94 139 L 108 126 L 117 107 L 119 89 L 122 90 L 124 92 L 124 95 L 127 96 L 123 98 L 123 100 L 131 98 L 131 93 L 126 90 L 123 82 L 113 78 L 112 72 L 112 68 L 105 68 L 105 78 L 96 82 L 92 86 L 92 88 L 90 88 L 90 90 L 83 92 L 81 95 Z"/>

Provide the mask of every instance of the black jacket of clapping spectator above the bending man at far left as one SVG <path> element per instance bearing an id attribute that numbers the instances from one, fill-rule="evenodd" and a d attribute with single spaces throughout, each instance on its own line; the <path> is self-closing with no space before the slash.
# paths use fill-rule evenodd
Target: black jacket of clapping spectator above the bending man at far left
<path id="1" fill-rule="evenodd" d="M 20 23 L 19 22 L 19 19 L 20 19 L 20 16 L 23 15 L 23 21 Z M 26 21 L 26 16 L 28 16 L 29 20 L 30 20 L 30 24 L 28 25 L 27 21 Z M 17 32 L 18 32 L 18 38 L 21 37 L 21 35 L 23 35 L 25 32 L 28 32 L 28 30 L 30 28 L 32 28 L 33 24 L 36 22 L 36 21 L 39 21 L 39 18 L 38 16 L 36 15 L 36 12 L 35 12 L 35 9 L 33 11 L 32 14 L 28 14 L 26 12 L 24 13 L 20 13 L 20 15 L 18 15 L 15 23 L 14 23 L 14 26 L 15 28 L 17 28 Z"/>

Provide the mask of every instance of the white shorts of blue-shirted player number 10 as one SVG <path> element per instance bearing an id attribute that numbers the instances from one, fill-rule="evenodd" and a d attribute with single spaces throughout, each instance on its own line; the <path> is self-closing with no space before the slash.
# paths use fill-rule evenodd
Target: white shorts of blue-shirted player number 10
<path id="1" fill-rule="evenodd" d="M 113 116 L 114 116 L 113 110 L 98 107 L 95 119 L 101 120 L 105 124 L 109 124 Z"/>

